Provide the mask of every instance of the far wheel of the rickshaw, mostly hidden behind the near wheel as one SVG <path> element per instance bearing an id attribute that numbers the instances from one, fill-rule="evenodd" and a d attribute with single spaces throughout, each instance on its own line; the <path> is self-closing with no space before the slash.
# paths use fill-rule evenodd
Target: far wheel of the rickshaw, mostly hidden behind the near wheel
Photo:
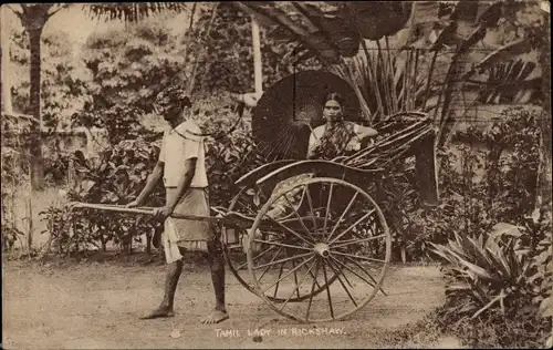
<path id="1" fill-rule="evenodd" d="M 248 208 L 248 206 L 254 206 L 253 203 L 248 203 L 248 192 L 251 192 L 253 189 L 251 188 L 241 188 L 239 191 L 239 193 L 237 194 L 237 196 L 234 196 L 234 198 L 231 200 L 229 207 L 228 207 L 228 210 L 229 212 L 238 212 L 238 213 L 241 213 L 241 214 L 249 214 L 253 217 L 255 217 L 255 213 L 253 213 L 253 208 Z M 238 227 L 226 227 L 223 226 L 223 229 L 233 229 L 238 233 L 238 235 L 243 235 L 243 239 L 246 240 L 249 240 L 250 237 L 249 235 L 247 234 L 247 231 L 244 229 L 239 229 Z M 249 282 L 247 279 L 249 278 L 249 269 L 248 269 L 248 257 L 247 257 L 247 253 L 243 253 L 243 261 L 237 261 L 237 256 L 240 257 L 240 255 L 242 254 L 241 251 L 239 251 L 238 249 L 240 249 L 239 247 L 237 247 L 237 245 L 233 245 L 233 244 L 229 244 L 227 240 L 222 240 L 222 251 L 223 251 L 223 256 L 225 256 L 225 260 L 227 261 L 227 266 L 229 268 L 229 270 L 232 272 L 232 275 L 234 275 L 234 277 L 237 278 L 237 280 L 246 288 L 248 289 L 249 291 L 251 291 L 252 294 L 258 294 L 255 291 L 255 288 L 253 287 L 253 285 L 251 282 Z M 273 251 L 271 251 L 273 250 Z M 265 250 L 262 250 L 262 251 L 259 251 L 259 254 L 255 256 L 253 255 L 253 259 L 255 260 L 259 260 L 259 257 L 262 256 L 262 255 L 267 255 L 267 254 L 271 254 L 271 253 L 274 253 L 274 248 L 273 249 L 265 249 Z M 244 269 L 246 268 L 246 269 Z M 332 284 L 337 277 L 334 277 L 333 279 L 330 280 L 330 284 Z M 317 286 L 317 288 L 315 289 L 314 294 L 320 294 L 322 292 L 323 290 L 325 290 L 325 285 L 320 285 Z M 274 297 L 274 296 L 270 296 L 270 295 L 265 295 L 267 299 L 268 300 L 271 300 L 272 302 L 284 302 L 285 299 L 284 298 L 278 298 L 278 297 Z M 306 298 L 309 298 L 310 296 L 309 295 L 304 295 L 304 296 L 296 296 L 296 297 L 293 297 L 289 300 L 289 302 L 298 302 L 298 301 L 303 301 L 305 300 Z"/>

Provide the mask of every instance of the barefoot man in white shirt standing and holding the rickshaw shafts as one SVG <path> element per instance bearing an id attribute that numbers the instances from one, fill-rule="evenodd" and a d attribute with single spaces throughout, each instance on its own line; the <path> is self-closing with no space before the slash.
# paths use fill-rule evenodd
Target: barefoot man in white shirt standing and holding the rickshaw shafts
<path id="1" fill-rule="evenodd" d="M 164 134 L 159 161 L 148 183 L 138 197 L 127 207 L 146 203 L 148 195 L 163 178 L 166 204 L 154 213 L 164 220 L 164 250 L 168 264 L 164 299 L 159 307 L 143 319 L 173 317 L 177 284 L 182 272 L 182 255 L 186 250 L 207 254 L 216 297 L 212 312 L 202 323 L 218 323 L 229 318 L 225 305 L 225 259 L 220 241 L 211 225 L 201 220 L 171 218 L 173 214 L 210 215 L 206 152 L 200 127 L 190 117 L 190 97 L 181 86 L 161 91 L 155 102 L 156 112 L 169 123 Z"/>

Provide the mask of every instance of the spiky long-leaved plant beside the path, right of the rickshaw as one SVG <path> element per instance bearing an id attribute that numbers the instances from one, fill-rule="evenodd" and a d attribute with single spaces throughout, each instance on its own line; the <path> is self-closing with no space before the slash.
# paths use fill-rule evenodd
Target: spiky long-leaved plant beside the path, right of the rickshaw
<path id="1" fill-rule="evenodd" d="M 500 246 L 502 236 L 511 238 Z M 451 264 L 448 275 L 456 282 L 448 285 L 446 294 L 458 301 L 452 311 L 476 318 L 494 306 L 503 312 L 514 310 L 514 303 L 531 289 L 530 261 L 512 238 L 520 236 L 517 227 L 500 223 L 487 238 L 456 234 L 447 246 L 431 244 L 432 251 Z"/>

